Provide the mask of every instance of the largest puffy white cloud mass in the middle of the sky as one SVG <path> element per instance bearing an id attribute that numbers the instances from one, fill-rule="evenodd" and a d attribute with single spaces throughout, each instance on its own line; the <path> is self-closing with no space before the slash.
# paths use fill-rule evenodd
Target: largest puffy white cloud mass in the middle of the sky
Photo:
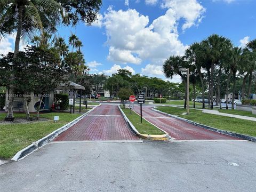
<path id="1" fill-rule="evenodd" d="M 179 40 L 179 20 L 185 20 L 182 30 L 188 29 L 202 20 L 205 9 L 196 0 L 163 2 L 166 13 L 152 23 L 137 10 L 115 11 L 109 7 L 102 21 L 109 45 L 108 60 L 134 64 L 149 60 L 162 65 L 170 55 L 184 54 L 187 46 Z"/>

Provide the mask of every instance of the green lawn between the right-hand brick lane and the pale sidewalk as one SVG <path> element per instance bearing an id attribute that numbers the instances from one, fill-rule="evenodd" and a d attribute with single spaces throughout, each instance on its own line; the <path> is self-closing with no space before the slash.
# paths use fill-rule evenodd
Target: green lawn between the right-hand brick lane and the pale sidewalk
<path id="1" fill-rule="evenodd" d="M 253 121 L 237 119 L 233 117 L 225 117 L 220 115 L 206 114 L 202 113 L 201 110 L 195 109 L 190 109 L 189 115 L 181 115 L 182 113 L 186 112 L 186 109 L 183 108 L 157 107 L 157 109 L 165 113 L 177 115 L 197 123 L 215 127 L 217 129 L 232 131 L 256 137 L 256 122 Z"/>

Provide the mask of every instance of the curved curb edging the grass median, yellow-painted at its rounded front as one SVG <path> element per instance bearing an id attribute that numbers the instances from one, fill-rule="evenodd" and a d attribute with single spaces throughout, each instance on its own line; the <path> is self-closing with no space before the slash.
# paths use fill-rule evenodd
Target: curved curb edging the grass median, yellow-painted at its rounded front
<path id="1" fill-rule="evenodd" d="M 141 134 L 134 125 L 130 122 L 130 120 L 125 115 L 124 111 L 121 109 L 121 107 L 118 105 L 118 109 L 121 111 L 126 123 L 132 130 L 132 132 L 137 135 L 141 139 L 149 139 L 149 140 L 168 140 L 169 135 L 168 134 L 162 134 L 162 135 L 152 135 L 152 134 Z M 162 131 L 162 130 L 161 130 Z"/>

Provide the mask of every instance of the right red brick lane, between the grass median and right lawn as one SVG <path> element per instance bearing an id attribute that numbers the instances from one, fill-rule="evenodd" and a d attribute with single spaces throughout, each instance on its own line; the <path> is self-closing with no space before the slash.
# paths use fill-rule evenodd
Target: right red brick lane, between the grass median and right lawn
<path id="1" fill-rule="evenodd" d="M 202 127 L 189 124 L 179 119 L 158 113 L 151 110 L 152 107 L 143 106 L 142 116 L 150 123 L 158 126 L 162 130 L 177 140 L 219 140 L 219 139 L 237 139 L 229 135 L 213 132 Z M 140 113 L 140 107 L 134 106 L 134 110 Z"/>

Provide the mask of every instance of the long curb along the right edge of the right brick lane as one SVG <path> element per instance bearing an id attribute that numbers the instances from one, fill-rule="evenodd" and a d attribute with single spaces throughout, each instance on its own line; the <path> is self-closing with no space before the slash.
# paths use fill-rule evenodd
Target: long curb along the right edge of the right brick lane
<path id="1" fill-rule="evenodd" d="M 244 135 L 244 134 L 239 134 L 239 133 L 234 133 L 234 132 L 230 132 L 230 131 L 225 131 L 225 130 L 216 129 L 216 128 L 211 127 L 211 126 L 203 125 L 203 124 L 200 124 L 200 123 L 196 123 L 196 122 L 190 121 L 190 120 L 185 119 L 185 118 L 181 118 L 181 117 L 177 117 L 177 116 L 175 116 L 175 115 L 171 115 L 171 114 L 164 113 L 163 111 L 159 111 L 159 110 L 155 109 L 155 107 L 154 107 L 154 109 L 152 109 L 152 110 L 157 111 L 158 113 L 162 113 L 162 114 L 164 114 L 164 115 L 173 117 L 173 118 L 180 119 L 180 120 L 182 120 L 182 121 L 185 121 L 185 122 L 187 122 L 187 123 L 190 123 L 190 124 L 193 124 L 193 125 L 202 127 L 202 128 L 204 128 L 204 129 L 207 129 L 207 130 L 210 130 L 210 131 L 214 131 L 214 132 L 217 132 L 217 133 L 229 135 L 229 136 L 231 136 L 231 137 L 236 137 L 236 138 L 239 138 L 239 139 L 244 139 L 244 140 L 249 140 L 249 141 L 256 142 L 256 137 L 252 137 L 252 136 L 249 136 L 249 135 Z"/>

